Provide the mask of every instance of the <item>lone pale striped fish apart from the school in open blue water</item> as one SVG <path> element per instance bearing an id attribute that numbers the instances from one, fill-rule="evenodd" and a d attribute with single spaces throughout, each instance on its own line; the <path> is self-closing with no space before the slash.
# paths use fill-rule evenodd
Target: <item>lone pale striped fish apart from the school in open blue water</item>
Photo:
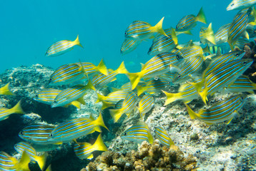
<path id="1" fill-rule="evenodd" d="M 48 57 L 60 56 L 64 53 L 66 53 L 67 51 L 71 51 L 73 49 L 73 46 L 76 46 L 76 45 L 84 48 L 81 45 L 81 43 L 79 42 L 78 35 L 77 35 L 76 40 L 74 40 L 74 41 L 67 41 L 67 40 L 57 41 L 56 43 L 54 43 L 47 49 L 45 56 L 48 56 Z"/>

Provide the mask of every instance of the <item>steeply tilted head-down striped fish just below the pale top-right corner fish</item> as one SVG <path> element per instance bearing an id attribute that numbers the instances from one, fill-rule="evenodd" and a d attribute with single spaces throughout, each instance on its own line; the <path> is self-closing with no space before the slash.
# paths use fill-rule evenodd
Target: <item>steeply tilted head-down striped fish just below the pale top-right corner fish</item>
<path id="1" fill-rule="evenodd" d="M 231 50 L 233 51 L 234 45 L 238 38 L 245 33 L 246 38 L 249 38 L 248 33 L 245 31 L 245 28 L 248 24 L 249 18 L 246 13 L 238 13 L 230 25 L 230 28 L 227 32 L 227 43 L 229 43 Z"/>

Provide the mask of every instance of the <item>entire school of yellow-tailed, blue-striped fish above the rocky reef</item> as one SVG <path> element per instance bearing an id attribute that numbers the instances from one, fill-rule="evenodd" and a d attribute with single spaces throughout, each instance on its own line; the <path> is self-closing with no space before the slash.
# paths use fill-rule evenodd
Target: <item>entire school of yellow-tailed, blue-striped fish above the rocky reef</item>
<path id="1" fill-rule="evenodd" d="M 138 144 L 146 140 L 154 141 L 151 129 L 144 122 L 145 114 L 150 115 L 154 108 L 154 100 L 159 93 L 166 96 L 164 106 L 169 108 L 175 100 L 182 100 L 184 108 L 191 119 L 199 119 L 207 125 L 215 123 L 232 122 L 239 113 L 242 105 L 246 103 L 247 93 L 254 93 L 256 84 L 242 74 L 249 68 L 253 60 L 243 58 L 245 51 L 243 45 L 250 38 L 256 36 L 256 9 L 253 5 L 256 0 L 233 0 L 227 11 L 239 9 L 234 19 L 221 26 L 215 33 L 212 23 L 207 24 L 207 19 L 201 8 L 197 15 L 183 16 L 176 26 L 162 28 L 164 17 L 154 26 L 145 21 L 133 21 L 124 31 L 124 43 L 121 54 L 135 51 L 139 44 L 145 40 L 152 40 L 147 54 L 153 56 L 142 64 L 141 71 L 129 73 L 124 62 L 116 70 L 107 68 L 103 59 L 98 66 L 93 63 L 77 61 L 67 63 L 56 68 L 49 78 L 49 86 L 40 90 L 34 100 L 39 103 L 51 105 L 51 108 L 74 105 L 81 108 L 84 105 L 84 95 L 97 93 L 97 101 L 102 103 L 102 110 L 109 108 L 114 123 L 122 118 L 134 114 L 138 110 L 138 122 L 130 126 L 121 136 L 124 140 Z M 192 35 L 192 28 L 197 22 L 207 24 L 199 31 L 200 43 L 189 41 L 179 44 L 179 34 Z M 222 51 L 222 44 L 228 43 L 230 51 Z M 74 41 L 64 40 L 53 43 L 47 50 L 46 56 L 59 56 L 71 51 L 74 46 L 82 46 L 79 36 Z M 205 66 L 203 68 L 203 66 Z M 117 80 L 117 75 L 125 74 L 129 82 L 120 88 L 112 88 L 109 94 L 102 94 L 102 88 L 108 83 Z M 86 84 L 84 84 L 86 83 Z M 167 92 L 172 85 L 179 85 L 176 93 Z M 54 86 L 67 85 L 64 90 L 55 89 Z M 209 98 L 215 93 L 232 93 L 221 102 L 209 104 Z M 15 95 L 9 83 L 0 88 L 0 95 Z M 207 108 L 202 108 L 195 113 L 189 103 L 194 99 L 201 99 Z M 21 108 L 21 100 L 13 108 L 0 108 L 0 121 L 9 118 L 13 113 L 25 114 Z M 125 115 L 124 115 L 125 114 Z M 242 114 L 241 114 L 242 115 Z M 107 151 L 107 146 L 102 138 L 102 128 L 109 130 L 104 124 L 104 116 L 98 118 L 76 118 L 66 120 L 59 125 L 29 125 L 19 133 L 21 142 L 14 146 L 20 159 L 0 152 L 0 170 L 29 170 L 29 162 L 37 162 L 41 170 L 51 170 L 51 165 L 46 165 L 47 151 L 58 147 L 65 142 L 74 142 L 74 153 L 81 160 L 92 160 L 93 152 Z M 161 125 L 161 123 L 159 123 Z M 98 132 L 99 136 L 94 144 L 77 142 L 78 138 Z M 156 138 L 162 145 L 170 147 L 174 142 L 162 126 L 154 128 Z M 39 155 L 41 152 L 42 155 Z"/>

